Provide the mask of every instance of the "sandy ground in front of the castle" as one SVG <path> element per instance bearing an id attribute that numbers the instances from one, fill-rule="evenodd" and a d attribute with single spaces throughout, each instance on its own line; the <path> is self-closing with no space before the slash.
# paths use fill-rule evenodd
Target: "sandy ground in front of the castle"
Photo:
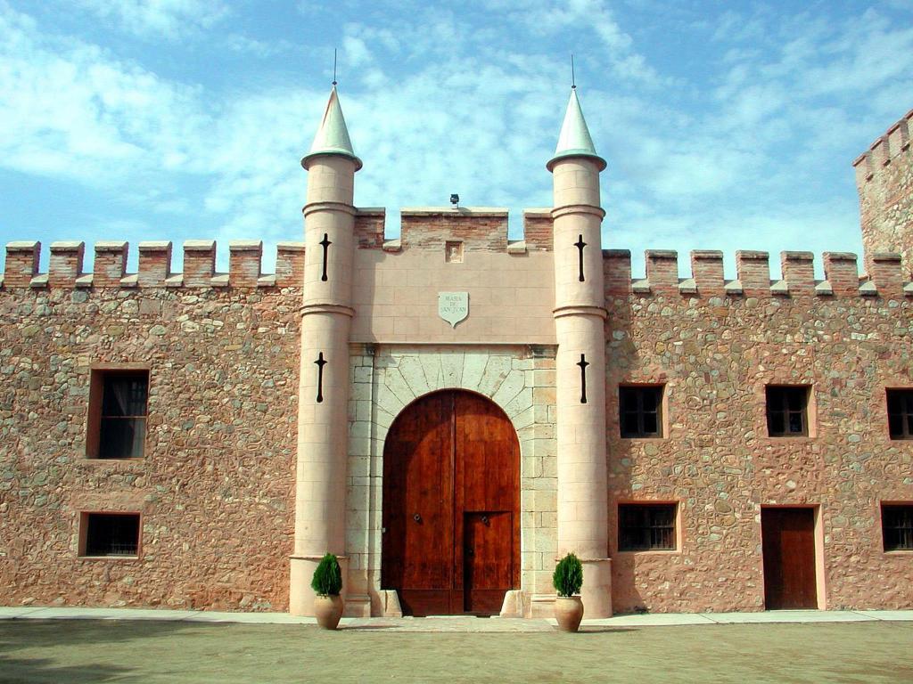
<path id="1" fill-rule="evenodd" d="M 544 620 L 362 620 L 326 632 L 164 611 L 142 614 L 171 619 L 136 619 L 136 611 L 115 611 L 133 619 L 99 619 L 71 609 L 69 617 L 82 618 L 61 620 L 33 610 L 16 617 L 8 610 L 0 620 L 2 682 L 913 681 L 913 621 L 861 614 L 839 623 L 699 627 L 591 621 L 566 635 Z M 196 614 L 220 615 L 237 614 Z M 648 617 L 660 616 L 631 619 Z"/>

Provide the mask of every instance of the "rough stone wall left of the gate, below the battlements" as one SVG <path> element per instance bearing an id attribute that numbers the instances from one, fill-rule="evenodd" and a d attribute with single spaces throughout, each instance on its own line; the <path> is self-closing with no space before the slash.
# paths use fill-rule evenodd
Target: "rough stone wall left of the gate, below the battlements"
<path id="1" fill-rule="evenodd" d="M 287 609 L 300 297 L 6 286 L 0 603 Z M 142 459 L 86 458 L 102 364 L 150 368 Z M 139 557 L 79 558 L 80 512 L 142 513 Z"/>

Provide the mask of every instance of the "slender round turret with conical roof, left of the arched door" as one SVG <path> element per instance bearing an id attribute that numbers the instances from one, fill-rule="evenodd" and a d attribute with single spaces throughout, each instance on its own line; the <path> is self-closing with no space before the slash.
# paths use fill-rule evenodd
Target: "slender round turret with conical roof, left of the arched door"
<path id="1" fill-rule="evenodd" d="M 289 612 L 310 615 L 310 579 L 323 554 L 345 554 L 348 453 L 349 329 L 355 171 L 362 161 L 342 116 L 336 84 L 310 152 L 304 205 L 305 268 L 301 307 L 295 548 L 290 561 Z"/>

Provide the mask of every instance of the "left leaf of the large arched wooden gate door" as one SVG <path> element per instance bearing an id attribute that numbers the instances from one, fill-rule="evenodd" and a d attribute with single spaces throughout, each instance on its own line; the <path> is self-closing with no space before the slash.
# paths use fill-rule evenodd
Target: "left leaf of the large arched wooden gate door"
<path id="1" fill-rule="evenodd" d="M 453 590 L 453 395 L 420 399 L 383 451 L 384 588 L 409 615 L 446 615 Z"/>

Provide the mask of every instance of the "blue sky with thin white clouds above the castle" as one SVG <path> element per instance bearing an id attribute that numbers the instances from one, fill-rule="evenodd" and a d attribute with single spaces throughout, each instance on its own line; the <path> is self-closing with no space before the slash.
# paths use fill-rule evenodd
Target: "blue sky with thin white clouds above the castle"
<path id="1" fill-rule="evenodd" d="M 303 240 L 338 48 L 355 203 L 521 212 L 571 81 L 603 248 L 861 254 L 852 161 L 913 108 L 913 2 L 0 0 L 0 239 Z M 820 273 L 820 258 L 818 259 Z"/>

